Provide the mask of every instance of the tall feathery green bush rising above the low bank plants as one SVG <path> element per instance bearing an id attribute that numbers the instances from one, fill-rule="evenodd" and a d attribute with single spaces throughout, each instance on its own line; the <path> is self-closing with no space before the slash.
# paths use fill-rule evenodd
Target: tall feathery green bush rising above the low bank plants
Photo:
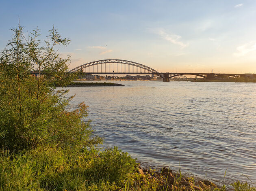
<path id="1" fill-rule="evenodd" d="M 92 136 L 89 123 L 82 122 L 87 106 L 70 106 L 68 90 L 56 90 L 75 77 L 67 73 L 69 56 L 60 57 L 55 50 L 70 39 L 61 38 L 53 27 L 42 45 L 38 29 L 28 39 L 22 30 L 12 29 L 13 38 L 0 53 L 0 146 L 11 152 L 39 145 L 81 150 L 102 142 Z"/>

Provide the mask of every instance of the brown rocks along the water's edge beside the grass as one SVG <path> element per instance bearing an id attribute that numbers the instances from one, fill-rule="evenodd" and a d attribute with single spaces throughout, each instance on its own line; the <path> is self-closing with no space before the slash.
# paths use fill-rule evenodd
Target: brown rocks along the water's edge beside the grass
<path id="1" fill-rule="evenodd" d="M 219 187 L 209 180 L 195 180 L 194 177 L 185 177 L 182 174 L 175 173 L 171 169 L 163 167 L 161 172 L 142 168 L 137 168 L 137 173 L 141 176 L 144 183 L 154 181 L 158 184 L 160 190 L 196 190 L 196 191 L 213 191 Z"/>

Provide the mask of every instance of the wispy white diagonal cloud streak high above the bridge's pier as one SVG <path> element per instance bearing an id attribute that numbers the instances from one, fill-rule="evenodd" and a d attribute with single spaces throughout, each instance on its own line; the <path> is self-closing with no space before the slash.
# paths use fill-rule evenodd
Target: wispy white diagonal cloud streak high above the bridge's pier
<path id="1" fill-rule="evenodd" d="M 185 44 L 184 42 L 180 41 L 182 37 L 177 34 L 167 34 L 163 29 L 154 30 L 154 32 L 160 35 L 161 38 L 163 38 L 164 40 L 167 40 L 173 43 L 174 45 L 178 45 L 181 48 L 185 48 L 189 45 L 188 43 Z"/>

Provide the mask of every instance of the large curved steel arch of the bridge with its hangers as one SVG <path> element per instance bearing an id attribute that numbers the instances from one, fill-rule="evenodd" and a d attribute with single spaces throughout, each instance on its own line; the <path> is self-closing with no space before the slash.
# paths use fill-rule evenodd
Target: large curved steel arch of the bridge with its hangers
<path id="1" fill-rule="evenodd" d="M 145 66 L 143 64 L 139 64 L 137 62 L 132 62 L 132 61 L 129 61 L 129 60 L 123 60 L 123 59 L 102 59 L 102 60 L 96 60 L 96 61 L 93 61 L 93 62 L 88 62 L 86 64 L 82 64 L 80 66 L 77 66 L 76 68 L 73 68 L 72 70 L 70 70 L 69 72 L 78 72 L 78 71 L 83 71 L 85 68 L 89 68 L 90 66 L 95 66 L 95 65 L 100 65 L 100 64 L 124 64 L 125 65 L 129 65 L 129 66 L 135 66 L 137 68 L 141 68 L 142 70 L 147 70 L 148 73 L 153 73 L 153 74 L 156 74 L 158 76 L 160 76 L 161 78 L 164 78 L 163 74 L 157 72 L 156 70 L 154 70 L 153 68 L 150 68 L 148 66 Z M 123 68 L 125 70 L 125 68 Z M 129 72 L 130 72 L 130 68 L 129 69 Z M 106 68 L 105 68 L 106 70 Z M 121 69 L 120 69 L 121 70 Z M 106 71 L 105 71 L 106 72 Z M 125 71 L 126 72 L 126 71 Z M 126 72 L 126 73 L 129 73 L 129 72 Z M 100 73 L 104 73 L 104 72 L 100 72 Z M 109 72 L 107 72 L 109 73 Z M 116 72 L 117 73 L 117 72 Z M 121 73 L 121 72 L 120 72 Z M 132 72 L 131 72 L 132 73 Z M 139 72 L 137 72 L 139 73 Z M 141 72 L 141 73 L 145 73 L 145 72 Z"/>

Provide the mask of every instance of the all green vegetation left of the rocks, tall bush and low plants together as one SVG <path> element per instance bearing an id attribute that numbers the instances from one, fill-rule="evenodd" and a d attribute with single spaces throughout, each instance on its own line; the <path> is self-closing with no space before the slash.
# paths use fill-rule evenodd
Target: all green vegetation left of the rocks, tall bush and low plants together
<path id="1" fill-rule="evenodd" d="M 0 190 L 116 189 L 135 159 L 117 147 L 98 155 L 87 106 L 69 104 L 61 87 L 75 75 L 54 47 L 70 40 L 53 28 L 41 46 L 39 30 L 13 32 L 0 53 Z"/>

